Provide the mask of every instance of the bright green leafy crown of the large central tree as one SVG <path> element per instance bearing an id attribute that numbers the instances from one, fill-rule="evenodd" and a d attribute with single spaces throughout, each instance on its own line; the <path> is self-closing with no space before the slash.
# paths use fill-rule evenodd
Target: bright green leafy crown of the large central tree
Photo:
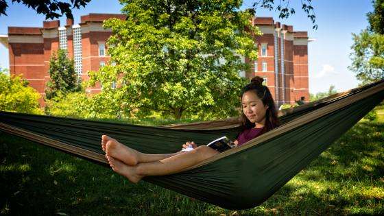
<path id="1" fill-rule="evenodd" d="M 127 19 L 104 24 L 113 32 L 108 53 L 116 66 L 89 73 L 91 85 L 101 82 L 98 97 L 108 100 L 111 112 L 140 116 L 155 110 L 176 119 L 237 115 L 245 84 L 239 72 L 249 68 L 239 55 L 256 58 L 259 35 L 252 14 L 239 11 L 241 1 L 121 3 Z"/>

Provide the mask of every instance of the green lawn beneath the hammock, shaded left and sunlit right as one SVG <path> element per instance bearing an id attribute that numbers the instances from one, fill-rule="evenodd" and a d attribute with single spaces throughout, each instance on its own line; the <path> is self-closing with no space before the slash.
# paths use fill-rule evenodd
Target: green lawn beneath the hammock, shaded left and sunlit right
<path id="1" fill-rule="evenodd" d="M 256 208 L 229 211 L 0 132 L 1 215 L 379 215 L 384 106 Z"/>

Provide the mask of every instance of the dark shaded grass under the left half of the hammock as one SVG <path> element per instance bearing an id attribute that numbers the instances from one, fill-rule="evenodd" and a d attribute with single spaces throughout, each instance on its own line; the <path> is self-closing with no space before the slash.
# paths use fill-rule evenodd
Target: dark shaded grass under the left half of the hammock
<path id="1" fill-rule="evenodd" d="M 3 132 L 0 152 L 1 215 L 196 215 L 209 206 Z"/>

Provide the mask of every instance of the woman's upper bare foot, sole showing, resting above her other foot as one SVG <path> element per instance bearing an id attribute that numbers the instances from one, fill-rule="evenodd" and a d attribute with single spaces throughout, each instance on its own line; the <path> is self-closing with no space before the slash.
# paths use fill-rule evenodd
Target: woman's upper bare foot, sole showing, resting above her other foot
<path id="1" fill-rule="evenodd" d="M 101 136 L 101 149 L 103 149 L 108 156 L 120 160 L 128 166 L 134 166 L 138 162 L 138 152 L 136 150 L 126 147 L 110 136 Z"/>

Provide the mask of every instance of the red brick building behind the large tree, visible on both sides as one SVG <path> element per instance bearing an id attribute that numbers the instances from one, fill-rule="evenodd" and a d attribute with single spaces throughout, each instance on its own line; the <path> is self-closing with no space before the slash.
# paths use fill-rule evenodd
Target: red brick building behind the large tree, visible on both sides
<path id="1" fill-rule="evenodd" d="M 44 97 L 49 59 L 60 47 L 67 49 L 69 58 L 73 58 L 77 75 L 88 80 L 88 71 L 97 71 L 109 60 L 106 41 L 111 30 L 102 25 L 112 17 L 125 19 L 122 14 L 88 14 L 81 16 L 81 23 L 77 25 L 67 19 L 64 26 L 60 26 L 60 21 L 44 21 L 43 27 L 8 27 L 8 41 L 2 38 L 0 42 L 9 49 L 10 74 L 23 74 L 29 85 Z M 293 104 L 302 97 L 308 100 L 307 32 L 293 32 L 292 26 L 280 26 L 269 17 L 254 18 L 252 23 L 263 32 L 263 36 L 255 40 L 259 59 L 251 62 L 243 58 L 252 64 L 253 73 L 241 75 L 264 77 L 278 106 Z M 101 88 L 95 86 L 87 91 L 97 93 Z M 43 99 L 40 104 L 43 105 Z"/>

